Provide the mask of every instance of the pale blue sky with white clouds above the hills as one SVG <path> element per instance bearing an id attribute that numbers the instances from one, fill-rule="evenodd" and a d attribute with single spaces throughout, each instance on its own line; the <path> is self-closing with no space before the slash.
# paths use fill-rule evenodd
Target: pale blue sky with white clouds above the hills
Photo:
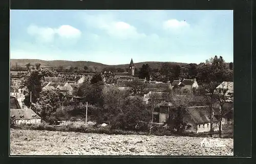
<path id="1" fill-rule="evenodd" d="M 11 10 L 10 58 L 233 62 L 232 10 Z"/>

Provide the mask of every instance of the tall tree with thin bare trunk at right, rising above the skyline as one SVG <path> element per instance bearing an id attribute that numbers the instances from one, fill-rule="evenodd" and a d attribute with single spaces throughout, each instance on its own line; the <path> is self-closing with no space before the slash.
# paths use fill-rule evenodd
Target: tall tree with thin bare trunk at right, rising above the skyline
<path id="1" fill-rule="evenodd" d="M 212 59 L 212 58 L 211 58 Z M 213 106 L 215 102 L 215 89 L 223 81 L 226 80 L 226 64 L 222 57 L 215 56 L 210 62 L 200 63 L 197 67 L 198 84 L 204 88 L 204 95 L 209 96 L 210 99 L 210 132 L 213 133 L 212 118 Z"/>

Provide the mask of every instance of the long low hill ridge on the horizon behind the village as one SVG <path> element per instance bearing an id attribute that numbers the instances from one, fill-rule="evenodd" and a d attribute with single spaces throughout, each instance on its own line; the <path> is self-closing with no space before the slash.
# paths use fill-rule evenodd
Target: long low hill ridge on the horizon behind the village
<path id="1" fill-rule="evenodd" d="M 10 66 L 11 68 L 15 68 L 16 63 L 20 67 L 26 67 L 26 64 L 30 63 L 32 65 L 35 65 L 35 63 L 40 63 L 41 67 L 53 67 L 53 68 L 58 68 L 59 66 L 63 66 L 63 69 L 66 67 L 72 66 L 72 67 L 78 67 L 78 68 L 83 68 L 84 66 L 87 67 L 97 67 L 97 70 L 102 70 L 105 67 L 116 67 L 116 68 L 122 68 L 126 69 L 129 67 L 130 62 L 127 64 L 122 64 L 122 65 L 105 65 L 101 63 L 96 63 L 96 62 L 90 62 L 90 61 L 61 61 L 61 60 L 55 60 L 55 61 L 44 61 L 44 60 L 38 60 L 38 59 L 10 59 Z M 162 66 L 162 63 L 164 62 L 140 62 L 140 63 L 134 63 L 136 68 L 140 68 L 143 64 L 148 64 L 152 69 L 160 69 Z M 175 62 L 170 62 L 173 64 L 178 64 L 180 66 L 186 65 L 187 63 L 175 63 Z"/>

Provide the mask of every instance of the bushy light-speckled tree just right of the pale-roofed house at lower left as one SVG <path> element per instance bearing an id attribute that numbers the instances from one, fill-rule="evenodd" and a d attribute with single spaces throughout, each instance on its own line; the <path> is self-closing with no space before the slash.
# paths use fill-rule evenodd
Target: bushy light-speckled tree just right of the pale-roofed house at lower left
<path id="1" fill-rule="evenodd" d="M 42 120 L 50 121 L 59 107 L 59 95 L 53 90 L 42 90 L 38 97 L 38 105 L 40 105 L 40 116 Z"/>

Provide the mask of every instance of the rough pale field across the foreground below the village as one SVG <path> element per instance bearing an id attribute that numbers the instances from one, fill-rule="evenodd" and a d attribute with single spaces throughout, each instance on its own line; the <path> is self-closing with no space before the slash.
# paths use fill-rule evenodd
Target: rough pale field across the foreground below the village
<path id="1" fill-rule="evenodd" d="M 225 147 L 201 147 L 204 138 L 188 136 L 107 135 L 11 129 L 11 155 L 233 155 Z"/>

